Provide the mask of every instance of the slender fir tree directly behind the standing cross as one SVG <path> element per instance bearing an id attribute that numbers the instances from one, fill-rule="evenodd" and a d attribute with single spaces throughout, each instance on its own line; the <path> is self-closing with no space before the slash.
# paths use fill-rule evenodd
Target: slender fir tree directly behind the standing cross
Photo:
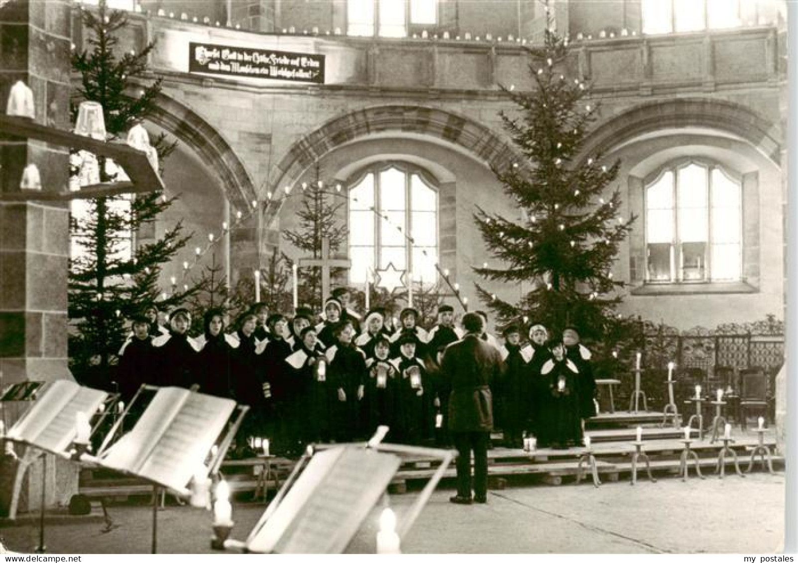
<path id="1" fill-rule="evenodd" d="M 339 190 L 340 187 L 336 187 Z M 347 230 L 338 219 L 338 213 L 344 202 L 334 203 L 334 195 L 329 184 L 321 179 L 321 171 L 316 164 L 315 178 L 311 183 L 302 183 L 302 207 L 297 211 L 299 228 L 286 230 L 283 236 L 299 250 L 304 256 L 321 258 L 322 238 L 330 241 L 330 254 L 335 254 L 346 242 Z M 303 256 L 303 257 L 304 257 Z M 333 268 L 330 271 L 330 282 L 341 275 L 342 268 Z M 300 268 L 299 278 L 299 303 L 322 308 L 322 269 L 317 266 Z"/>

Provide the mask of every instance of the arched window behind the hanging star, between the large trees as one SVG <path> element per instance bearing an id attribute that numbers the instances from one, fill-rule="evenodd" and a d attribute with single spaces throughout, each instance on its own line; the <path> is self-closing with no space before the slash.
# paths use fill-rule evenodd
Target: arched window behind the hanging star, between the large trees
<path id="1" fill-rule="evenodd" d="M 437 189 L 421 170 L 388 163 L 361 171 L 349 190 L 350 282 L 389 264 L 435 282 L 437 216 Z"/>

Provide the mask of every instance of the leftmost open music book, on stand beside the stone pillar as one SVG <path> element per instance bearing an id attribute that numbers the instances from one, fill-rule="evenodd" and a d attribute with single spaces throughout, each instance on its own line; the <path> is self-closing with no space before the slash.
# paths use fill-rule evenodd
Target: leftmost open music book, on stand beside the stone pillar
<path id="1" fill-rule="evenodd" d="M 45 391 L 8 431 L 6 438 L 63 454 L 75 439 L 75 415 L 83 412 L 90 420 L 107 396 L 104 391 L 81 387 L 74 381 L 53 381 L 45 386 Z"/>

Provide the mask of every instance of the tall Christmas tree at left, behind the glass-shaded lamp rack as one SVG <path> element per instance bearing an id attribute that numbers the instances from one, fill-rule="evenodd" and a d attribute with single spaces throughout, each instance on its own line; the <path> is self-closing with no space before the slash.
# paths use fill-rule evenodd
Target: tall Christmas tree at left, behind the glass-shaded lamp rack
<path id="1" fill-rule="evenodd" d="M 154 44 L 139 53 L 119 53 L 117 33 L 124 28 L 124 12 L 109 10 L 101 2 L 97 12 L 81 11 L 83 26 L 89 31 L 89 49 L 73 54 L 73 70 L 81 74 L 81 86 L 73 100 L 73 120 L 77 103 L 83 100 L 101 104 L 108 140 L 117 140 L 152 110 L 160 92 L 160 80 L 141 86 L 147 57 Z M 159 160 L 168 156 L 174 144 L 164 136 L 153 143 Z M 73 155 L 73 176 L 81 177 L 85 167 L 96 163 L 101 182 L 117 179 L 120 171 L 105 159 Z M 79 185 L 79 183 L 78 183 Z M 188 237 L 180 224 L 160 238 L 136 245 L 141 226 L 154 222 L 171 204 L 160 193 L 104 197 L 81 200 L 73 207 L 69 234 L 73 257 L 69 261 L 70 368 L 77 380 L 97 386 L 107 385 L 109 365 L 127 337 L 126 317 L 158 301 L 159 309 L 179 304 L 196 289 L 184 285 L 162 293 L 159 287 L 161 266 L 172 259 Z"/>

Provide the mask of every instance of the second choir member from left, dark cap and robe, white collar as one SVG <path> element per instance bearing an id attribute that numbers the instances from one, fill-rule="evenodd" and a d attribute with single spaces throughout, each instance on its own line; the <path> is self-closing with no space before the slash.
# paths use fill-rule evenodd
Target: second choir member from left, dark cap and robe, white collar
<path id="1" fill-rule="evenodd" d="M 188 336 L 191 313 L 180 307 L 169 314 L 169 333 L 156 337 L 157 381 L 161 387 L 190 388 L 197 380 L 199 344 Z"/>

